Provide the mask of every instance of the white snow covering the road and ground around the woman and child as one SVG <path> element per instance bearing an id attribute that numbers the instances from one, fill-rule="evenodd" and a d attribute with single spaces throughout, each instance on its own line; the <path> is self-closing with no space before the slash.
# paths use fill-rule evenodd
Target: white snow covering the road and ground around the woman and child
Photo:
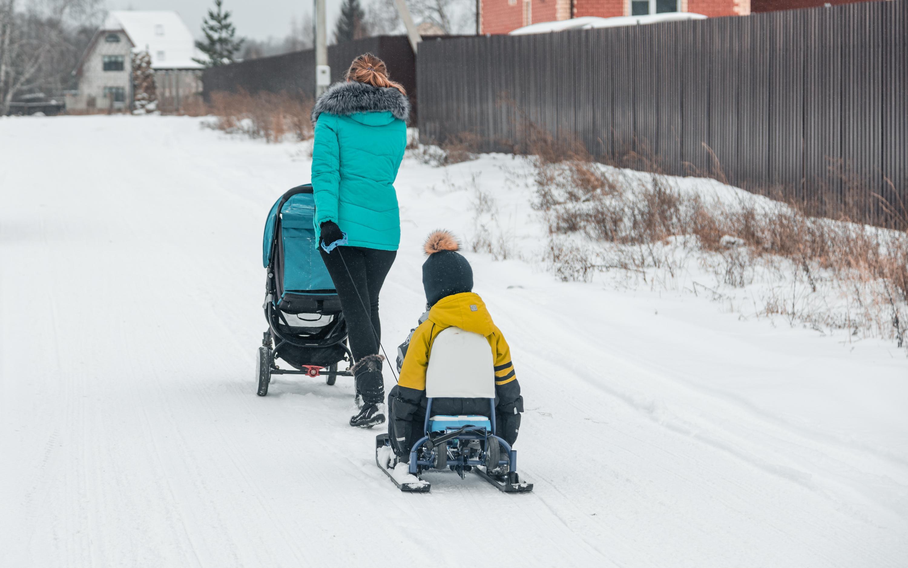
<path id="1" fill-rule="evenodd" d="M 518 369 L 533 493 L 454 473 L 400 493 L 376 432 L 346 425 L 350 379 L 256 396 L 262 226 L 309 181 L 306 148 L 184 117 L 0 119 L 0 564 L 908 565 L 889 342 L 468 254 Z M 403 164 L 389 353 L 424 304 L 422 238 L 476 228 L 474 179 L 544 246 L 514 163 Z"/>

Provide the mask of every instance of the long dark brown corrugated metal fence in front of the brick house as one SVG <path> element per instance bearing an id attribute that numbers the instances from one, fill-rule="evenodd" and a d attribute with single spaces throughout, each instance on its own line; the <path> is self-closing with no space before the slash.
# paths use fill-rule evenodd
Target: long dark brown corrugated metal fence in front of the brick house
<path id="1" fill-rule="evenodd" d="M 530 130 L 598 160 L 730 184 L 893 224 L 908 204 L 904 0 L 420 45 L 424 141 Z M 881 200 L 877 195 L 882 196 Z"/>

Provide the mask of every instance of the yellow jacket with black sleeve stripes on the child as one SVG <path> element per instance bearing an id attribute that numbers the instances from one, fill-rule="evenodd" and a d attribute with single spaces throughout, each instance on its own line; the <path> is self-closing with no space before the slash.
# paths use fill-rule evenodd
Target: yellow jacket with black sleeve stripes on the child
<path id="1" fill-rule="evenodd" d="M 467 292 L 440 299 L 429 310 L 429 319 L 413 331 L 400 367 L 399 386 L 426 390 L 426 369 L 429 367 L 432 343 L 442 331 L 452 326 L 483 335 L 489 341 L 495 355 L 495 384 L 498 387 L 517 379 L 504 335 L 492 322 L 492 316 L 479 294 Z"/>

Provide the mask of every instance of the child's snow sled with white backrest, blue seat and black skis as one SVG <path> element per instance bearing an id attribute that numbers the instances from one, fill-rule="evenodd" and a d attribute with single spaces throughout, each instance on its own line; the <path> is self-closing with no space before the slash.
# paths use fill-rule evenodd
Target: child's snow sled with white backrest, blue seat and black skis
<path id="1" fill-rule="evenodd" d="M 445 469 L 461 479 L 477 473 L 505 493 L 533 490 L 533 483 L 521 481 L 517 473 L 517 452 L 496 435 L 495 367 L 485 337 L 459 327 L 436 337 L 426 372 L 426 398 L 423 436 L 413 444 L 408 463 L 395 455 L 390 434 L 375 438 L 375 463 L 401 491 L 428 492 L 431 485 L 420 475 Z M 433 415 L 434 398 L 485 398 L 489 415 Z"/>

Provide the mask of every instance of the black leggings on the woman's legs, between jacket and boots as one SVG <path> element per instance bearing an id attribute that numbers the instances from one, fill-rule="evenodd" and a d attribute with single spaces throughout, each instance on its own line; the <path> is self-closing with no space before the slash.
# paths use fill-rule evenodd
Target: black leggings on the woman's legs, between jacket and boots
<path id="1" fill-rule="evenodd" d="M 330 254 L 321 247 L 319 252 L 341 299 L 353 358 L 359 361 L 366 355 L 379 354 L 379 292 L 397 251 L 339 246 Z"/>

